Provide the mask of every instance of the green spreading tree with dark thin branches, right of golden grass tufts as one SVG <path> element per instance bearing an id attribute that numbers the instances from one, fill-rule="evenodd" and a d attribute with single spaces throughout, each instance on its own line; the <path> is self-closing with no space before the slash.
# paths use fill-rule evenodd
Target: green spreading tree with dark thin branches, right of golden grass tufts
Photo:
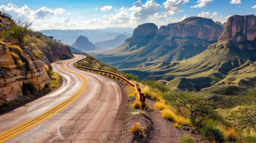
<path id="1" fill-rule="evenodd" d="M 190 112 L 190 119 L 193 125 L 201 127 L 207 117 L 215 113 L 216 103 L 213 100 L 206 100 L 202 97 L 191 95 L 189 92 L 172 91 L 164 93 L 164 98 L 177 109 L 180 114 L 187 109 Z M 183 115 L 186 117 L 186 115 Z"/>

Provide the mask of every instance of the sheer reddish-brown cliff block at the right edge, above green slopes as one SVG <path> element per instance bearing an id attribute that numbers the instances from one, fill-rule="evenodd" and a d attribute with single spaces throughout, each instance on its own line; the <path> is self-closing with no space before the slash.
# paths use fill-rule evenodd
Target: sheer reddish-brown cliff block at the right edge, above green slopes
<path id="1" fill-rule="evenodd" d="M 246 42 L 256 40 L 256 16 L 234 15 L 227 20 L 227 26 L 219 42 Z"/>

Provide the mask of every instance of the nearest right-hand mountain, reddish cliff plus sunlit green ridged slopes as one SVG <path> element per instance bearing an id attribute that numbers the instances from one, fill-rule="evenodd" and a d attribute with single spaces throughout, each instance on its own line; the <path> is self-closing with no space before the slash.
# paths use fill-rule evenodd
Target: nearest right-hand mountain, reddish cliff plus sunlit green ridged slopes
<path id="1" fill-rule="evenodd" d="M 234 15 L 227 20 L 219 42 L 202 53 L 180 62 L 148 62 L 125 72 L 140 70 L 145 72 L 140 75 L 148 75 L 146 79 L 169 81 L 170 88 L 209 90 L 218 86 L 226 89 L 223 94 L 234 94 L 255 86 L 256 34 L 251 32 L 255 30 L 255 15 Z"/>

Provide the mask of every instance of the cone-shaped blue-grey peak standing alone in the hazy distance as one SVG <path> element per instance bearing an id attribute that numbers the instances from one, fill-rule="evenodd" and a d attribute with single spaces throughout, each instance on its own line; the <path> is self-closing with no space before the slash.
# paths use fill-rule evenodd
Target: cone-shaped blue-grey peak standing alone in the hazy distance
<path id="1" fill-rule="evenodd" d="M 79 36 L 71 47 L 74 47 L 79 51 L 93 51 L 99 49 L 98 46 L 92 44 L 85 36 Z"/>

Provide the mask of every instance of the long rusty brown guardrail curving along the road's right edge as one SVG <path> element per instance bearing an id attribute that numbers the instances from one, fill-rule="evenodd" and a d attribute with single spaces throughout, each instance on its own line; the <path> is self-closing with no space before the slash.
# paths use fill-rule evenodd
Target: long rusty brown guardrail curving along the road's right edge
<path id="1" fill-rule="evenodd" d="M 80 54 L 80 55 L 85 55 L 86 57 L 88 57 L 87 54 L 81 54 L 81 53 L 74 53 L 74 54 Z M 144 96 L 144 93 L 141 93 L 141 88 L 139 87 L 139 84 L 133 84 L 130 80 L 126 79 L 125 77 L 121 76 L 121 75 L 118 75 L 116 73 L 112 73 L 112 72 L 109 72 L 109 71 L 105 71 L 105 70 L 98 70 L 98 69 L 94 69 L 94 68 L 88 68 L 88 67 L 84 67 L 84 66 L 80 66 L 79 64 L 83 61 L 86 60 L 86 57 L 84 59 L 81 59 L 79 60 L 78 62 L 76 62 L 76 66 L 77 67 L 80 67 L 80 68 L 84 68 L 86 71 L 94 71 L 94 72 L 97 72 L 101 75 L 109 75 L 109 77 L 114 76 L 113 78 L 115 79 L 115 77 L 117 77 L 117 80 L 121 79 L 123 81 L 125 81 L 127 84 L 129 84 L 130 86 L 134 87 L 135 88 L 135 91 L 137 93 L 137 96 L 138 96 L 138 99 L 141 101 L 141 102 L 144 102 L 146 100 L 146 97 Z"/>

